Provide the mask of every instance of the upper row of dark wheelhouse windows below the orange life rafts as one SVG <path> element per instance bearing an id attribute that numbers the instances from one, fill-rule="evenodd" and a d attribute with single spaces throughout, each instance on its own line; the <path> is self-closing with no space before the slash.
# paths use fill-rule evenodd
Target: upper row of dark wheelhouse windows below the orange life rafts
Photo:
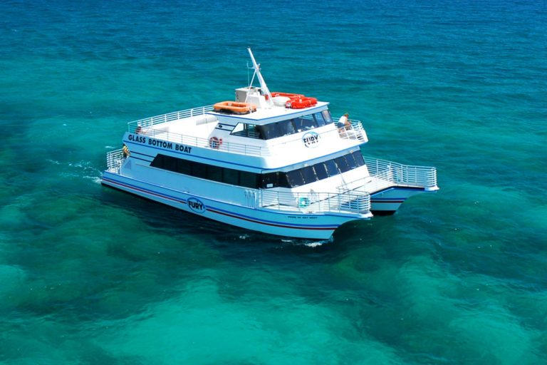
<path id="1" fill-rule="evenodd" d="M 298 118 L 282 120 L 281 122 L 265 125 L 238 123 L 231 134 L 240 135 L 241 137 L 269 140 L 271 138 L 282 137 L 283 135 L 291 135 L 303 132 L 304 130 L 322 127 L 323 125 L 330 123 L 333 123 L 330 112 L 328 110 L 323 110 L 320 113 L 303 115 Z"/>

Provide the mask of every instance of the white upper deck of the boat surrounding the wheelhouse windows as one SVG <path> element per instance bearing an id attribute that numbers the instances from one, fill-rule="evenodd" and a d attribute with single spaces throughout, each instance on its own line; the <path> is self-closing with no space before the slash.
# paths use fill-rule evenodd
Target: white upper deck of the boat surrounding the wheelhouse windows
<path id="1" fill-rule="evenodd" d="M 234 115 L 214 113 L 212 106 L 203 106 L 132 121 L 127 123 L 127 132 L 156 140 L 225 153 L 259 157 L 276 156 L 278 158 L 286 156 L 289 160 L 302 158 L 302 154 L 306 155 L 308 159 L 313 156 L 321 157 L 321 155 L 346 150 L 368 141 L 359 120 L 350 120 L 350 125 L 338 128 L 338 119 L 333 119 L 333 123 L 318 128 L 295 130 L 293 134 L 269 140 L 234 135 L 229 130 L 230 125 L 233 130 L 234 125 L 239 122 L 266 125 L 266 120 L 269 123 L 276 123 L 276 120 L 309 115 L 318 110 L 325 110 L 328 103 L 322 104 L 315 108 L 306 108 L 296 112 L 291 109 L 284 111 L 283 109 L 286 108 L 276 108 L 277 110 L 270 110 L 270 113 L 267 113 L 266 110 L 266 112 L 257 111 L 248 115 L 237 115 L 234 118 L 234 123 L 229 121 L 228 128 L 224 124 L 227 123 L 226 118 L 223 117 L 231 118 Z M 252 114 L 262 118 L 251 118 Z M 307 145 L 306 135 L 307 138 L 321 140 L 321 148 Z M 218 138 L 222 140 L 222 143 L 212 143 L 212 138 Z M 293 161 L 291 162 L 293 163 Z"/>

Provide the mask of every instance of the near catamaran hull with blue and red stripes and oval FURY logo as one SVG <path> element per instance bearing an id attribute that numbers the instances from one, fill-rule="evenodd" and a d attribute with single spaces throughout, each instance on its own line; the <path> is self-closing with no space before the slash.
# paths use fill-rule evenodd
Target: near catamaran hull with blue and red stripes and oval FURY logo
<path id="1" fill-rule="evenodd" d="M 304 214 L 243 207 L 146 183 L 108 170 L 103 173 L 101 183 L 212 220 L 283 237 L 326 240 L 345 222 L 370 219 L 370 215 L 326 212 Z"/>

